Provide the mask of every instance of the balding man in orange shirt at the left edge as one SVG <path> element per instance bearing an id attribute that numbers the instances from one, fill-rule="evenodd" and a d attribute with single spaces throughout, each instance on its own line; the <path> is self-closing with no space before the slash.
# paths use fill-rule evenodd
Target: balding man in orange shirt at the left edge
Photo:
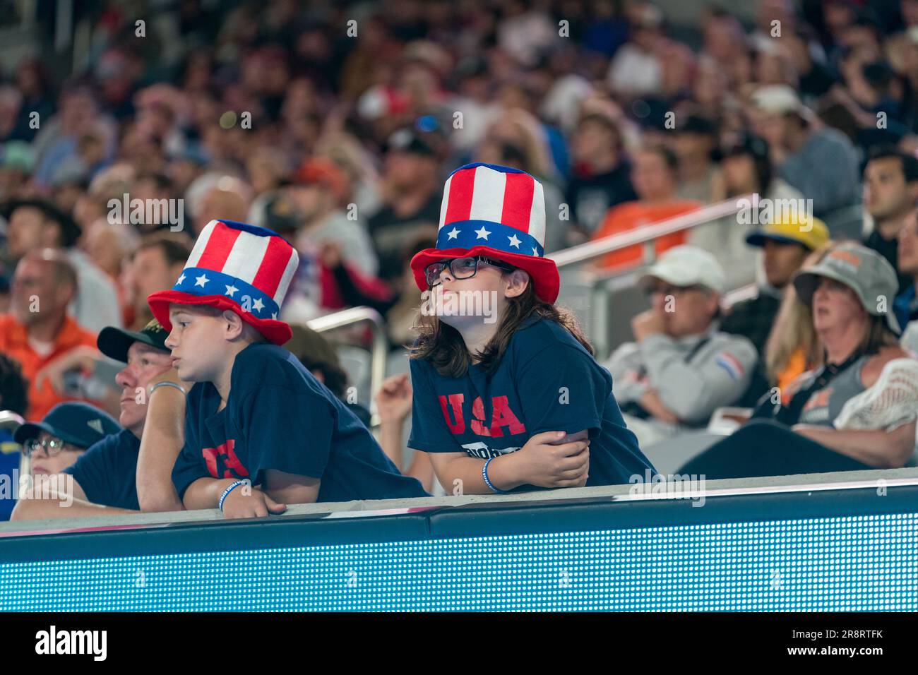
<path id="1" fill-rule="evenodd" d="M 58 393 L 36 374 L 50 361 L 84 345 L 95 348 L 95 335 L 67 316 L 76 293 L 76 271 L 55 249 L 27 253 L 13 276 L 10 313 L 0 315 L 0 352 L 16 359 L 28 379 L 26 419 L 41 420 L 56 404 L 79 399 Z"/>

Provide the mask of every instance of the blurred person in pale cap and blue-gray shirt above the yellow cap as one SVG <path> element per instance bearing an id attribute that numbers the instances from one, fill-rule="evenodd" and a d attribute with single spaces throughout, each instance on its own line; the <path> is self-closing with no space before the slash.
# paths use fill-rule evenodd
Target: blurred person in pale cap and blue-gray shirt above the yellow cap
<path id="1" fill-rule="evenodd" d="M 787 85 L 756 89 L 752 105 L 756 133 L 767 141 L 778 175 L 812 199 L 814 215 L 825 219 L 854 203 L 857 154 L 851 141 L 836 129 L 818 128 L 812 111 Z"/>

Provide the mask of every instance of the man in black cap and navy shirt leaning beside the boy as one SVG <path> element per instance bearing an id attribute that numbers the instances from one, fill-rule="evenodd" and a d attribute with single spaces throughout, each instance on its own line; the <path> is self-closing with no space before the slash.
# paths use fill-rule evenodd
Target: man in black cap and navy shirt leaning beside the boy
<path id="1" fill-rule="evenodd" d="M 163 343 L 167 336 L 155 320 L 140 332 L 107 327 L 99 333 L 102 354 L 127 364 L 115 378 L 122 389 L 119 422 L 124 430 L 94 444 L 64 469 L 73 476 L 70 494 L 30 492 L 30 499 L 17 503 L 13 520 L 129 513 L 141 505 L 148 512 L 183 508 L 174 489 L 162 489 L 172 485 L 185 420 L 185 389 L 174 377 L 172 356 Z"/>

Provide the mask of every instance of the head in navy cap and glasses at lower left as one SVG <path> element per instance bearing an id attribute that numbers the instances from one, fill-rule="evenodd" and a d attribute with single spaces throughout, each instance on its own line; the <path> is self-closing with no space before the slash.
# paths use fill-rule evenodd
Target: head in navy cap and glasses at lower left
<path id="1" fill-rule="evenodd" d="M 28 457 L 33 478 L 62 473 L 83 456 L 86 448 L 113 433 L 121 425 L 105 411 L 79 401 L 58 403 L 41 422 L 27 422 L 13 435 Z"/>

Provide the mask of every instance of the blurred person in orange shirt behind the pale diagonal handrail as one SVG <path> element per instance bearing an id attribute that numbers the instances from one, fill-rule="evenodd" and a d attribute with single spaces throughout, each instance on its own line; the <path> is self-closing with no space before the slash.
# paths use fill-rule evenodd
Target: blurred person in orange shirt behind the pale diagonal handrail
<path id="1" fill-rule="evenodd" d="M 691 199 L 679 199 L 678 161 L 665 146 L 648 146 L 633 156 L 632 184 L 637 200 L 612 207 L 593 235 L 593 241 L 674 218 L 701 207 Z M 687 231 L 667 234 L 655 240 L 656 254 L 686 242 Z M 635 244 L 603 256 L 597 263 L 604 269 L 628 269 L 644 262 L 643 245 Z"/>

